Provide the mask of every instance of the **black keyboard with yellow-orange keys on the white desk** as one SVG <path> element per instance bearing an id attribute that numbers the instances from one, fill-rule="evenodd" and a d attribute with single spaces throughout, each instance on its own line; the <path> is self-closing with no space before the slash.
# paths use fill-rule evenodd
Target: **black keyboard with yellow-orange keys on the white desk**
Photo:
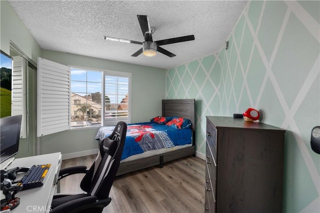
<path id="1" fill-rule="evenodd" d="M 17 185 L 22 185 L 22 190 L 42 186 L 50 167 L 51 164 L 32 165 Z"/>

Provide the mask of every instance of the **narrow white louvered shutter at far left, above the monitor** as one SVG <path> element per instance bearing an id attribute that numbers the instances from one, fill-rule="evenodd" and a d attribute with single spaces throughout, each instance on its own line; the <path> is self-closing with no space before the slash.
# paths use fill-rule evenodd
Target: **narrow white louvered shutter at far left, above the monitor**
<path id="1" fill-rule="evenodd" d="M 26 138 L 25 66 L 26 60 L 22 56 L 13 57 L 11 115 L 22 114 L 20 129 L 20 137 L 22 138 Z"/>

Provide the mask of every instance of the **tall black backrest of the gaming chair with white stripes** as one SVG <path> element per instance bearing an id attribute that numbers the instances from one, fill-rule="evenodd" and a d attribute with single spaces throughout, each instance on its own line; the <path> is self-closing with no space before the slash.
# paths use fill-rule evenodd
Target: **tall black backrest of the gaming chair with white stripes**
<path id="1" fill-rule="evenodd" d="M 109 192 L 120 164 L 126 135 L 126 123 L 119 121 L 113 132 L 99 145 L 98 154 L 81 180 L 80 187 L 98 199 L 108 198 Z"/>

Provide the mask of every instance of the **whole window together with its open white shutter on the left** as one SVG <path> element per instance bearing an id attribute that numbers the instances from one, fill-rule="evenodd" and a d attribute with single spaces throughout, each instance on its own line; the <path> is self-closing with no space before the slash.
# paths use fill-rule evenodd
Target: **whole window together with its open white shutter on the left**
<path id="1" fill-rule="evenodd" d="M 40 57 L 37 64 L 37 136 L 130 122 L 130 73 L 68 67 Z"/>

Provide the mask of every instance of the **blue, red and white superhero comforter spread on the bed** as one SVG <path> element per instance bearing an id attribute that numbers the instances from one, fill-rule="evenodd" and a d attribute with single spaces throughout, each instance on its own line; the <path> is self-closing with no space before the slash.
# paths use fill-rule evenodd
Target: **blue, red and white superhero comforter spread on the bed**
<path id="1" fill-rule="evenodd" d="M 113 129 L 114 126 L 100 127 L 95 139 L 102 140 L 109 136 Z M 128 124 L 121 160 L 144 151 L 185 145 L 191 142 L 192 130 L 190 128 L 175 129 L 154 122 Z"/>

